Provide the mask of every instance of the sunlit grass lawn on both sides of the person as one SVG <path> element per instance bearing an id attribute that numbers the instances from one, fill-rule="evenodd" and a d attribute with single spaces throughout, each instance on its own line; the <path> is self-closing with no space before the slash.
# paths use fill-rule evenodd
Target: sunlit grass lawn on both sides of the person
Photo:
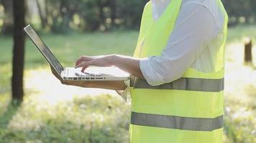
<path id="1" fill-rule="evenodd" d="M 81 55 L 132 55 L 137 31 L 42 34 L 64 66 Z M 256 142 L 256 74 L 242 64 L 242 39 L 256 26 L 229 29 L 225 79 L 224 142 Z M 256 55 L 255 48 L 253 49 Z M 129 107 L 113 91 L 61 85 L 27 39 L 24 102 L 10 102 L 12 37 L 0 36 L 0 142 L 129 142 Z M 256 62 L 255 62 L 256 65 Z M 239 74 L 239 76 L 237 76 Z M 3 76 L 4 75 L 4 76 Z"/>

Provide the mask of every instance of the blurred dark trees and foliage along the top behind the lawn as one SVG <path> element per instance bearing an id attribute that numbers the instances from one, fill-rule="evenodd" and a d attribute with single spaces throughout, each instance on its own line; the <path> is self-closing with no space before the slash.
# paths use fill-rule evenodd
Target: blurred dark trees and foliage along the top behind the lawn
<path id="1" fill-rule="evenodd" d="M 12 1 L 0 0 L 4 18 L 0 16 L 1 33 L 12 32 Z M 108 31 L 138 29 L 143 7 L 148 0 L 25 0 L 28 9 L 37 9 L 42 29 L 52 32 Z M 222 0 L 229 14 L 229 26 L 256 22 L 255 0 Z M 1 23 L 1 20 L 4 21 Z M 33 22 L 33 19 L 29 19 Z M 38 22 L 37 22 L 38 23 Z"/>

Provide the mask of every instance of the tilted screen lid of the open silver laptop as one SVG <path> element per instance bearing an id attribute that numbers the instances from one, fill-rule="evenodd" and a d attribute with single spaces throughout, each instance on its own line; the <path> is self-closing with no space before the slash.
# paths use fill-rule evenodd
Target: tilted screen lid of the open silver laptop
<path id="1" fill-rule="evenodd" d="M 32 26 L 28 25 L 24 28 L 24 31 L 28 34 L 29 38 L 34 42 L 35 46 L 37 46 L 37 49 L 39 49 L 43 56 L 45 56 L 45 59 L 49 62 L 52 67 L 58 71 L 58 74 L 61 73 L 63 70 L 63 66 L 61 66 L 60 62 L 56 57 L 52 54 L 50 49 L 45 45 L 45 43 L 42 41 L 40 36 L 35 32 L 34 29 L 32 29 Z"/>

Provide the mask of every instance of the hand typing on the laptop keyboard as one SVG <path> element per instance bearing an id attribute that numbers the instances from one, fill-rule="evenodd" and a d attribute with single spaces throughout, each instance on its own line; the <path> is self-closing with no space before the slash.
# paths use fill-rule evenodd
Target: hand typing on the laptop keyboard
<path id="1" fill-rule="evenodd" d="M 76 61 L 76 68 L 82 67 L 83 72 L 88 66 L 113 66 L 111 55 L 107 56 L 81 56 Z"/>

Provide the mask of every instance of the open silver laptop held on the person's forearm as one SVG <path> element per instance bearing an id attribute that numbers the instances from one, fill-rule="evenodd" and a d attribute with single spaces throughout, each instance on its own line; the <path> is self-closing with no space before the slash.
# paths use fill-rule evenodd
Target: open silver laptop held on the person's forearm
<path id="1" fill-rule="evenodd" d="M 74 67 L 63 68 L 58 59 L 52 54 L 44 41 L 38 36 L 32 26 L 24 28 L 29 38 L 33 41 L 37 49 L 45 56 L 45 59 L 63 78 L 63 80 L 85 80 L 85 81 L 125 81 L 129 79 L 129 74 L 116 67 L 93 67 L 90 66 L 85 72 L 81 68 Z"/>

